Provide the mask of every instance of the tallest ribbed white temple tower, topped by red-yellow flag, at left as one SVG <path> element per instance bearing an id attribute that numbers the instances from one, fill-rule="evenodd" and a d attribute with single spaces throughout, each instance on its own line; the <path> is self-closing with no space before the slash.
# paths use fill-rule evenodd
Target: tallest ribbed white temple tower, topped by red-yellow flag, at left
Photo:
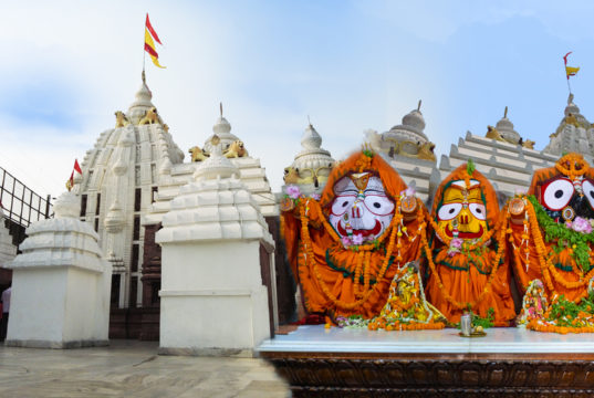
<path id="1" fill-rule="evenodd" d="M 174 143 L 155 105 L 143 73 L 136 98 L 127 113 L 116 112 L 113 128 L 103 132 L 82 163 L 75 180 L 81 196 L 81 220 L 100 234 L 100 244 L 113 265 L 112 310 L 142 303 L 144 228 L 142 214 L 153 202 L 159 177 L 180 164 L 184 153 Z M 112 311 L 123 325 L 129 311 Z M 132 337 L 128 332 L 118 337 Z"/>

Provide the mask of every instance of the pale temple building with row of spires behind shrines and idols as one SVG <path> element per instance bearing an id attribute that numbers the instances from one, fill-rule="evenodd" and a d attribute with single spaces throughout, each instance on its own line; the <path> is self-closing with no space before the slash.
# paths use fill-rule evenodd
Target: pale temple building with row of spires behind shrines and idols
<path id="1" fill-rule="evenodd" d="M 155 234 L 180 187 L 191 181 L 196 168 L 208 159 L 215 135 L 221 140 L 226 157 L 238 167 L 241 182 L 253 195 L 277 241 L 275 281 L 270 275 L 265 281 L 271 290 L 274 285 L 274 324 L 294 321 L 295 283 L 280 239 L 280 196 L 272 192 L 260 160 L 249 155 L 249 143 L 232 132 L 221 104 L 212 133 L 205 132 L 204 143 L 189 148 L 186 157 L 186 150 L 175 144 L 175 133 L 165 117 L 158 113 L 143 74 L 134 102 L 127 112 L 115 112 L 114 126 L 101 133 L 84 156 L 82 176 L 75 176 L 81 220 L 91 223 L 100 234 L 103 253 L 113 266 L 111 336 L 158 338 L 161 275 Z M 457 145 L 451 145 L 449 155 L 437 159 L 420 101 L 400 124 L 384 133 L 366 130 L 362 140 L 397 170 L 427 206 L 444 178 L 469 158 L 492 184 L 502 205 L 506 198 L 527 191 L 533 171 L 553 166 L 561 153 L 577 150 L 591 159 L 593 135 L 572 95 L 544 150 L 533 149 L 534 143 L 515 132 L 506 108 L 503 117 L 494 127 L 489 126 L 486 135 L 468 132 Z M 301 150 L 295 151 L 293 161 L 284 169 L 284 187 L 296 185 L 305 195 L 319 195 L 334 165 L 331 153 L 322 147 L 322 136 L 309 124 Z"/>

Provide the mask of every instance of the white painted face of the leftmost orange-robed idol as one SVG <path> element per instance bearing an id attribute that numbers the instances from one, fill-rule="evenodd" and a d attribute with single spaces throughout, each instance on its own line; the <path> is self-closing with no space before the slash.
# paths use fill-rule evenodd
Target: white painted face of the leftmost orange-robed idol
<path id="1" fill-rule="evenodd" d="M 362 190 L 350 177 L 334 186 L 330 223 L 350 244 L 362 244 L 382 235 L 394 217 L 394 202 L 386 195 L 378 177 L 372 176 Z"/>

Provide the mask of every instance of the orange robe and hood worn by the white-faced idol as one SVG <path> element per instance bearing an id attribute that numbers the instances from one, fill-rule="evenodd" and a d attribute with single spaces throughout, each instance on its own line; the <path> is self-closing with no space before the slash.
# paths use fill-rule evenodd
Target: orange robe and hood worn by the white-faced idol
<path id="1" fill-rule="evenodd" d="M 311 237 L 314 261 L 306 258 L 303 248 L 300 208 L 285 211 L 282 214 L 288 258 L 291 261 L 293 275 L 301 285 L 303 304 L 310 313 L 343 316 L 357 314 L 366 318 L 377 315 L 387 301 L 389 285 L 398 270 L 398 264 L 404 266 L 406 262 L 417 260 L 420 254 L 420 238 L 417 235 L 415 239 L 408 239 L 403 235 L 400 238 L 402 248 L 399 248 L 402 260 L 396 261 L 398 249 L 394 245 L 393 254 L 387 259 L 389 266 L 383 277 L 378 279 L 378 273 L 386 262 L 385 251 L 392 233 L 392 228 L 388 228 L 384 232 L 387 234 L 384 243 L 371 251 L 369 254 L 369 290 L 373 290 L 371 295 L 354 308 L 344 308 L 341 304 L 336 304 L 337 302 L 356 303 L 359 301 L 359 297 L 355 295 L 355 269 L 361 254 L 357 251 L 345 249 L 335 237 L 329 233 L 323 223 L 327 222 L 329 208 L 334 199 L 335 182 L 350 172 L 358 172 L 357 161 L 362 156 L 361 153 L 354 154 L 332 171 L 320 202 L 309 199 L 308 203 L 306 199 L 302 199 L 299 203 L 299 207 L 308 207 L 308 231 Z M 377 155 L 373 157 L 369 167 L 365 170 L 373 171 L 381 177 L 386 193 L 393 199 L 406 189 L 406 185 L 398 174 Z M 394 201 L 396 202 L 395 199 Z M 421 211 L 426 213 L 424 208 Z M 418 231 L 418 220 L 407 222 L 406 227 L 413 238 Z M 358 284 L 359 291 L 363 291 L 363 287 L 364 276 L 362 274 Z"/>

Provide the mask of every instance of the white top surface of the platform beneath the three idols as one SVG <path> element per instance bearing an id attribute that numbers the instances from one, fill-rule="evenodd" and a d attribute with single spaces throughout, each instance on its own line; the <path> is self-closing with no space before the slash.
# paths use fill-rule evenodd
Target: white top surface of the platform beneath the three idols
<path id="1" fill-rule="evenodd" d="M 264 341 L 259 352 L 531 354 L 594 353 L 592 334 L 540 333 L 515 327 L 487 329 L 484 337 L 460 337 L 459 331 L 385 332 L 324 325 L 300 326 L 288 335 Z"/>

